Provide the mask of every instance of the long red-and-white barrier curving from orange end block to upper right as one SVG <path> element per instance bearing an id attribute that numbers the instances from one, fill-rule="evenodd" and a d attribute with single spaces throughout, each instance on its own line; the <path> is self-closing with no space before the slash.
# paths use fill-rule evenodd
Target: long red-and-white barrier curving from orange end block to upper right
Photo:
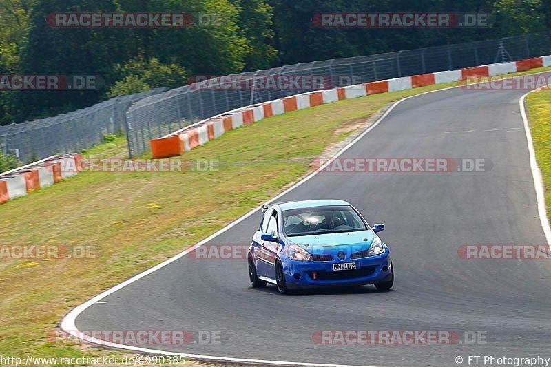
<path id="1" fill-rule="evenodd" d="M 510 63 L 465 67 L 460 70 L 446 70 L 444 72 L 404 76 L 402 78 L 392 78 L 384 81 L 374 81 L 284 97 L 260 105 L 242 107 L 241 109 L 227 112 L 226 114 L 206 120 L 206 122 L 193 125 L 183 132 L 177 132 L 174 136 L 153 139 L 151 140 L 152 156 L 153 158 L 176 156 L 182 154 L 183 151 L 194 149 L 194 147 L 203 145 L 209 140 L 218 138 L 218 136 L 231 129 L 237 129 L 264 118 L 278 116 L 297 109 L 315 107 L 323 103 L 333 103 L 341 99 L 410 90 L 426 85 L 453 83 L 470 78 L 488 78 L 490 76 L 510 74 L 534 67 L 541 67 L 542 65 L 551 66 L 551 56 L 535 57 Z"/>

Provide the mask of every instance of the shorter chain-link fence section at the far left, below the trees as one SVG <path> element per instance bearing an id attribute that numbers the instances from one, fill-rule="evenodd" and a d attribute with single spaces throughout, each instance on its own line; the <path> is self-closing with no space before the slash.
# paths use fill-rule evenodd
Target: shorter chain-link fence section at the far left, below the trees
<path id="1" fill-rule="evenodd" d="M 117 96 L 67 114 L 0 126 L 0 147 L 3 154 L 13 154 L 23 163 L 87 149 L 102 143 L 105 134 L 125 131 L 132 103 L 167 90 Z"/>

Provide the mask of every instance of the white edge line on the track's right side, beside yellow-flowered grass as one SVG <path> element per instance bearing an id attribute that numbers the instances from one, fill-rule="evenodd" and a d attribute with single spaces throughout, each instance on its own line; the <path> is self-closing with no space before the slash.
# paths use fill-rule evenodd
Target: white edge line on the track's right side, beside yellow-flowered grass
<path id="1" fill-rule="evenodd" d="M 521 116 L 524 124 L 524 132 L 526 133 L 526 142 L 528 143 L 528 153 L 530 154 L 530 170 L 532 171 L 532 178 L 534 179 L 534 189 L 536 189 L 536 199 L 538 205 L 539 221 L 543 228 L 543 233 L 547 239 L 547 244 L 551 249 L 551 228 L 549 227 L 549 218 L 547 216 L 547 209 L 545 208 L 545 185 L 543 184 L 543 176 L 538 167 L 536 160 L 536 151 L 534 150 L 534 141 L 532 140 L 532 132 L 530 132 L 530 122 L 528 121 L 528 114 L 526 114 L 526 107 L 524 101 L 528 94 L 537 90 L 531 90 L 530 92 L 521 96 L 519 105 L 521 108 Z"/>

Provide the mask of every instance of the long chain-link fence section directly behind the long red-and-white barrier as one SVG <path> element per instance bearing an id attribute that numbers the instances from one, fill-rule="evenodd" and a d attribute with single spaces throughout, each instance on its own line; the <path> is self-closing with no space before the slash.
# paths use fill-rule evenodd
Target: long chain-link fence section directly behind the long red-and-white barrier
<path id="1" fill-rule="evenodd" d="M 501 63 L 551 54 L 551 32 L 527 34 L 490 41 L 421 48 L 299 63 L 270 70 L 259 70 L 210 79 L 144 98 L 128 111 L 129 155 L 149 151 L 149 140 L 165 136 L 205 118 L 255 103 L 311 92 L 397 78 L 455 70 L 490 63 Z M 319 76 L 324 85 L 302 89 L 266 87 L 269 78 L 313 78 Z M 240 81 L 228 87 L 228 80 Z M 262 84 L 263 87 L 258 87 Z"/>

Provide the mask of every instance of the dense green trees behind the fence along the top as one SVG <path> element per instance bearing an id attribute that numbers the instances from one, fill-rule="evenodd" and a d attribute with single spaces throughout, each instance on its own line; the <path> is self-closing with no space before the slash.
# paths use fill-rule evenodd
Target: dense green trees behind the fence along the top
<path id="1" fill-rule="evenodd" d="M 53 12 L 216 14 L 188 28 L 54 28 Z M 491 28 L 320 28 L 320 12 L 488 12 Z M 194 19 L 195 20 L 195 19 Z M 546 0 L 1 0 L 0 75 L 96 75 L 93 91 L 0 90 L 0 125 L 53 116 L 110 96 L 225 75 L 379 52 L 495 39 L 551 28 Z"/>

